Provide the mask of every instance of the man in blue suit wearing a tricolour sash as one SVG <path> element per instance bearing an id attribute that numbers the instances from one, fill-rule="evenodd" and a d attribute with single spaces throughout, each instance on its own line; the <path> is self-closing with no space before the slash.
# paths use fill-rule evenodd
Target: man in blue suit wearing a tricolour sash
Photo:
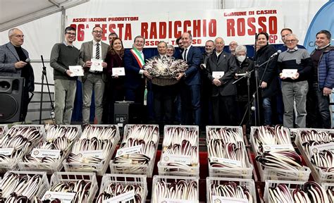
<path id="1" fill-rule="evenodd" d="M 151 79 L 147 70 L 142 69 L 145 56 L 142 53 L 145 39 L 142 36 L 135 37 L 132 49 L 125 51 L 125 100 L 144 104 L 145 77 Z"/>

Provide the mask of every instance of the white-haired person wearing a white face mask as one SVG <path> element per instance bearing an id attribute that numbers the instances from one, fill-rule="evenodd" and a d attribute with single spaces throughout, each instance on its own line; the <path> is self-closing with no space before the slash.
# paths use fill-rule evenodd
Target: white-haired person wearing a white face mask
<path id="1" fill-rule="evenodd" d="M 237 46 L 235 48 L 235 58 L 237 59 L 237 72 L 235 73 L 235 79 L 239 79 L 242 76 L 238 74 L 247 73 L 253 69 L 253 61 L 247 57 L 247 49 L 243 45 Z M 247 78 L 242 78 L 235 85 L 237 85 L 237 117 L 239 123 L 242 121 L 245 111 L 248 106 L 248 90 L 247 90 Z M 252 95 L 253 92 L 249 92 Z M 247 122 L 242 122 L 245 124 Z"/>

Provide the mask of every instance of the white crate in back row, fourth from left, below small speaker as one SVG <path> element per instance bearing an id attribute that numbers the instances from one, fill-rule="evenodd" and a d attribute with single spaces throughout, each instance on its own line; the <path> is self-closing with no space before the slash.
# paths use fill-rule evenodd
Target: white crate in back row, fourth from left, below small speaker
<path id="1" fill-rule="evenodd" d="M 124 127 L 124 137 L 123 141 L 127 139 L 128 135 L 128 130 L 130 127 L 134 126 L 136 124 L 127 124 Z M 151 126 L 153 128 L 158 128 L 158 135 L 159 135 L 159 126 L 158 125 L 146 125 L 146 126 Z M 110 171 L 111 173 L 116 173 L 116 174 L 137 174 L 137 175 L 146 175 L 147 178 L 152 177 L 153 173 L 153 168 L 154 168 L 154 161 L 156 159 L 156 151 L 158 149 L 158 143 L 159 142 L 159 136 L 158 140 L 156 141 L 155 146 L 156 148 L 154 149 L 154 156 L 152 157 L 151 160 L 149 160 L 149 164 L 145 165 L 140 165 L 140 164 L 114 164 L 113 160 L 110 161 Z"/>

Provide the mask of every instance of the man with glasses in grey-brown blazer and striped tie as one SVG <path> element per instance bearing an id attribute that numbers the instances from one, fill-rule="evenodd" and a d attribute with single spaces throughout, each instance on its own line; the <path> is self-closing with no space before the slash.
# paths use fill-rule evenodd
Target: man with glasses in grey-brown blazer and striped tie
<path id="1" fill-rule="evenodd" d="M 81 45 L 79 65 L 85 70 L 82 77 L 83 105 L 82 105 L 82 124 L 89 124 L 90 104 L 92 103 L 92 93 L 94 90 L 95 101 L 95 118 L 97 124 L 101 124 L 102 119 L 102 99 L 104 94 L 104 82 L 106 75 L 106 52 L 109 45 L 101 42 L 103 31 L 99 26 L 95 26 L 92 30 L 93 40 L 85 42 Z M 101 70 L 93 70 L 93 66 L 98 65 Z"/>

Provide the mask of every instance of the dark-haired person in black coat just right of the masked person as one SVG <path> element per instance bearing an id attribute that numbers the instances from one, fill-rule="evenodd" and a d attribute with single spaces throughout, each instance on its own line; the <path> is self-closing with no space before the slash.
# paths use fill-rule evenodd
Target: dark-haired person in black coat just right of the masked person
<path id="1" fill-rule="evenodd" d="M 275 47 L 268 44 L 269 36 L 266 32 L 260 32 L 256 36 L 260 49 L 256 51 L 254 63 L 260 66 L 268 61 L 276 53 Z M 278 92 L 277 56 L 274 56 L 268 63 L 259 67 L 259 92 L 261 92 L 261 102 L 263 109 L 264 125 L 273 124 L 271 118 L 276 112 L 276 94 Z"/>

